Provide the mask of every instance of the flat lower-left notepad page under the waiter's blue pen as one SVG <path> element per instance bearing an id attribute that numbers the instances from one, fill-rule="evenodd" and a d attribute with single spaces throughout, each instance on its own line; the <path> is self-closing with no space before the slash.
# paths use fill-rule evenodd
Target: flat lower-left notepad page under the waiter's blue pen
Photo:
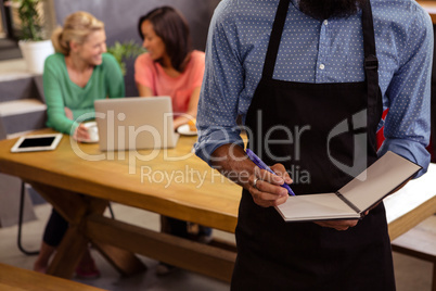
<path id="1" fill-rule="evenodd" d="M 290 197 L 275 208 L 286 222 L 360 217 L 335 193 Z"/>

